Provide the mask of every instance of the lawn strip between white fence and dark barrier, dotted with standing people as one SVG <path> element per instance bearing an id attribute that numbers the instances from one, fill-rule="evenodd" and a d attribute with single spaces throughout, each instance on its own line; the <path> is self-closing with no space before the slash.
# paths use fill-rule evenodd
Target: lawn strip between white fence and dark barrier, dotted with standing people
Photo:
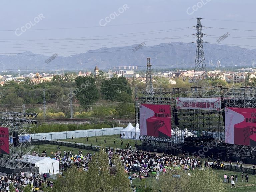
<path id="1" fill-rule="evenodd" d="M 116 147 L 116 148 L 125 148 L 125 145 L 129 143 L 132 147 L 134 147 L 135 140 L 120 138 L 120 135 L 106 135 L 97 137 L 97 143 L 95 141 L 96 137 L 88 137 L 88 142 L 86 141 L 86 137 L 82 138 L 74 138 L 72 139 L 62 139 L 62 141 L 76 142 L 76 143 L 84 143 L 88 145 L 98 145 L 98 146 L 106 146 L 106 147 Z M 106 143 L 104 143 L 104 139 L 106 138 Z M 116 141 L 116 144 L 114 144 Z M 121 141 L 123 141 L 123 146 L 121 146 Z M 139 145 L 141 141 L 137 139 L 137 145 Z"/>

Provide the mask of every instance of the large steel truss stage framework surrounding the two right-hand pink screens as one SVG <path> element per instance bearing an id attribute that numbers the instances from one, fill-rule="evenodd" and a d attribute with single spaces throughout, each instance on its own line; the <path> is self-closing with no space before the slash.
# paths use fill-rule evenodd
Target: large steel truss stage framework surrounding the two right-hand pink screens
<path id="1" fill-rule="evenodd" d="M 190 98 L 220 98 L 219 110 L 186 110 L 176 109 L 177 97 Z M 139 122 L 139 104 L 170 105 L 171 114 L 171 138 L 148 137 L 143 138 L 142 146 L 165 147 L 165 149 L 178 149 L 184 144 L 184 130 L 197 136 L 211 136 L 217 141 L 225 142 L 224 107 L 256 108 L 256 87 L 191 87 L 153 89 L 147 93 L 145 89 L 135 90 L 136 121 Z M 177 121 L 173 117 L 177 114 Z M 179 129 L 177 129 L 179 128 Z M 180 131 L 179 131 L 180 130 Z M 203 144 L 204 146 L 207 144 Z M 230 156 L 243 158 L 256 158 L 256 147 L 227 144 L 223 146 Z"/>

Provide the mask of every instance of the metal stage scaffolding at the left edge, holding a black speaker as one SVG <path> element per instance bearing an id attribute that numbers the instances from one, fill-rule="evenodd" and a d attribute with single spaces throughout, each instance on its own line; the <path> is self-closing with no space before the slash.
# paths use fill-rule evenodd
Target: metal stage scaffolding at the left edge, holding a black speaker
<path id="1" fill-rule="evenodd" d="M 10 169 L 33 167 L 31 163 L 26 163 L 31 160 L 26 160 L 22 156 L 33 153 L 35 142 L 31 142 L 30 134 L 33 134 L 37 128 L 37 122 L 36 113 L 0 112 L 0 126 L 8 127 L 9 130 L 9 154 L 0 154 L 0 167 Z M 12 142 L 14 132 L 18 134 L 18 146 L 14 146 Z"/>

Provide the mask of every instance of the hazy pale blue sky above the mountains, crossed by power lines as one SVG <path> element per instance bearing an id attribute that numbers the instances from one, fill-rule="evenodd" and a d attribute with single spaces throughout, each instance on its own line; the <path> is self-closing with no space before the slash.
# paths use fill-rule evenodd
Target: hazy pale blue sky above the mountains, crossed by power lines
<path id="1" fill-rule="evenodd" d="M 1 0 L 0 54 L 32 51 L 62 56 L 101 47 L 204 41 L 255 48 L 255 0 Z M 245 31 L 235 30 L 245 29 Z M 238 38 L 239 37 L 239 38 Z"/>

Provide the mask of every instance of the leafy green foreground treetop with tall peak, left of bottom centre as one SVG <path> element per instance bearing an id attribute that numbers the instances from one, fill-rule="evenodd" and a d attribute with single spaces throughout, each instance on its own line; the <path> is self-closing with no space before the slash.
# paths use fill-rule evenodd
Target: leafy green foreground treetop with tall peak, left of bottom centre
<path id="1" fill-rule="evenodd" d="M 120 192 L 130 191 L 127 173 L 120 163 L 119 157 L 112 158 L 113 167 L 109 167 L 108 153 L 102 147 L 99 153 L 92 156 L 88 171 L 72 166 L 63 172 L 64 177 L 57 178 L 53 185 L 54 192 L 81 191 L 87 192 Z"/>

